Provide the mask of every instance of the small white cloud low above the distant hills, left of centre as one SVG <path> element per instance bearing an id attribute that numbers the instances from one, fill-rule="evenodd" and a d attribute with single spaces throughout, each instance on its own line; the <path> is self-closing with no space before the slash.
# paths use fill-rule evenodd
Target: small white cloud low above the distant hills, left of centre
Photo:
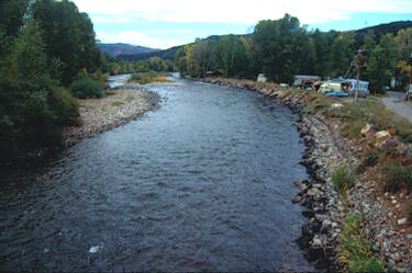
<path id="1" fill-rule="evenodd" d="M 96 36 L 102 43 L 126 43 L 131 45 L 143 45 L 152 48 L 169 48 L 181 45 L 182 42 L 149 37 L 147 34 L 136 31 L 122 31 L 116 34 L 97 32 Z"/>

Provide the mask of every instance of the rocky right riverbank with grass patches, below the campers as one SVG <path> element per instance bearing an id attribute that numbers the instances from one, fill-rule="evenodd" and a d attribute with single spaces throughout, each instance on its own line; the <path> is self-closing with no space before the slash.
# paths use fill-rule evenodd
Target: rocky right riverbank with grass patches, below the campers
<path id="1" fill-rule="evenodd" d="M 404 208 L 411 195 L 405 190 L 388 192 L 385 189 L 385 167 L 380 163 L 364 166 L 377 143 L 385 146 L 392 141 L 397 148 L 403 147 L 393 133 L 393 136 L 388 133 L 386 139 L 377 139 L 376 135 L 382 133 L 376 132 L 374 126 L 368 130 L 365 124 L 360 128 L 347 128 L 341 118 L 344 114 L 341 109 L 349 105 L 337 98 L 323 99 L 275 83 L 201 81 L 260 92 L 299 114 L 297 127 L 307 146 L 301 163 L 308 168 L 310 178 L 296 182 L 301 192 L 293 202 L 308 207 L 303 214 L 309 223 L 302 226 L 302 237 L 298 241 L 309 260 L 329 271 L 380 271 L 385 264 L 391 271 L 412 270 L 412 229 Z M 356 134 L 360 135 L 360 129 L 364 136 L 349 137 L 350 130 L 359 130 Z M 403 152 L 409 148 L 402 149 Z M 352 189 L 338 191 L 334 175 L 343 166 L 364 167 L 357 168 Z M 361 243 L 352 246 L 359 238 Z M 356 253 L 359 249 L 360 254 Z"/>

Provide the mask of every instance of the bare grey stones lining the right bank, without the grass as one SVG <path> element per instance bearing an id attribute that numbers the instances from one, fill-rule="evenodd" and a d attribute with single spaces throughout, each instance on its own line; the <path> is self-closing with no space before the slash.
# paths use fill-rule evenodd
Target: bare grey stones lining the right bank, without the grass
<path id="1" fill-rule="evenodd" d="M 309 179 L 296 182 L 301 191 L 293 203 L 308 208 L 303 215 L 309 221 L 302 226 L 302 236 L 298 242 L 310 261 L 327 271 L 344 270 L 345 264 L 339 259 L 339 238 L 345 232 L 344 219 L 350 213 L 361 216 L 365 221 L 363 225 L 376 259 L 386 261 L 390 270 L 412 270 L 410 228 L 397 227 L 397 221 L 388 218 L 393 217 L 396 212 L 386 205 L 388 202 L 405 198 L 407 193 L 380 193 L 377 186 L 379 178 L 376 178 L 374 170 L 369 170 L 359 175 L 355 186 L 348 191 L 350 205 L 347 209 L 345 198 L 332 185 L 331 178 L 335 168 L 342 163 L 357 164 L 363 155 L 363 145 L 358 140 L 349 140 L 343 136 L 343 124 L 338 118 L 326 117 L 321 113 L 307 114 L 305 110 L 313 102 L 303 93 L 289 91 L 274 83 L 229 79 L 200 81 L 257 91 L 299 114 L 296 125 L 307 146 L 301 164 L 307 167 Z"/>

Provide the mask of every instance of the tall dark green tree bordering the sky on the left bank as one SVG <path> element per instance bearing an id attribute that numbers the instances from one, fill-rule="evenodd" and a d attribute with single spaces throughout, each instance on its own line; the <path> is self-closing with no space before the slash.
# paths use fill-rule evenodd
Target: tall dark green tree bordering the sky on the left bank
<path id="1" fill-rule="evenodd" d="M 100 52 L 87 13 L 80 13 L 69 0 L 37 0 L 32 5 L 32 14 L 44 31 L 49 61 L 55 58 L 64 65 L 65 84 L 69 84 L 80 69 L 97 70 Z"/>

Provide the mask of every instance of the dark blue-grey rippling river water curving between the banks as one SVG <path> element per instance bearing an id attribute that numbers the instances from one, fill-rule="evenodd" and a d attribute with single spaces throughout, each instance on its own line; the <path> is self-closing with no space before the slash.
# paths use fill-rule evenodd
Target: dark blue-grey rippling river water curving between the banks
<path id="1" fill-rule="evenodd" d="M 0 179 L 1 271 L 313 271 L 297 116 L 177 80 L 162 106 Z"/>

